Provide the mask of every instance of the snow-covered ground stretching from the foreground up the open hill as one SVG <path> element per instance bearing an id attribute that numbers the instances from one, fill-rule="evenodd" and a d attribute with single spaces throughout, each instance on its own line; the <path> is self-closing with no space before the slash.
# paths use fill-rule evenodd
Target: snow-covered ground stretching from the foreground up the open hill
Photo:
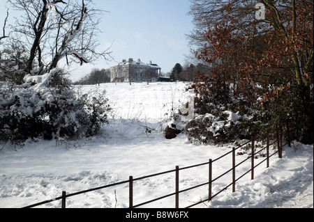
<path id="1" fill-rule="evenodd" d="M 15 150 L 0 147 L 0 207 L 24 207 L 61 196 L 134 178 L 170 171 L 216 159 L 230 146 L 194 145 L 184 134 L 165 139 L 163 125 L 172 108 L 188 100 L 183 83 L 101 84 L 84 86 L 85 92 L 107 90 L 112 106 L 110 124 L 102 136 L 68 141 L 27 141 Z M 247 155 L 237 156 L 237 162 Z M 256 160 L 259 161 L 258 159 Z M 215 162 L 213 178 L 231 168 L 231 156 Z M 237 169 L 239 176 L 251 163 Z M 180 171 L 179 187 L 185 189 L 207 182 L 208 166 Z M 213 184 L 213 194 L 230 184 L 227 174 Z M 173 193 L 174 173 L 134 182 L 133 204 Z M 180 193 L 180 207 L 207 198 L 207 186 Z M 59 200 L 41 207 L 61 207 Z M 128 184 L 67 198 L 66 207 L 128 207 Z M 144 207 L 174 207 L 174 196 Z M 285 147 L 283 158 L 271 157 L 210 203 L 196 207 L 313 207 L 313 145 L 294 141 Z"/>

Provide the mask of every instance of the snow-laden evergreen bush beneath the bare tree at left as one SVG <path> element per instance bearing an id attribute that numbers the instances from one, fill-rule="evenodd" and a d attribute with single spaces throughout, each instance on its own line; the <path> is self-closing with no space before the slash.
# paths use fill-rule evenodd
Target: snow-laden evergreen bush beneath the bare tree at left
<path id="1" fill-rule="evenodd" d="M 27 75 L 24 84 L 0 82 L 0 139 L 92 136 L 107 122 L 105 92 L 79 95 L 60 70 Z"/>

